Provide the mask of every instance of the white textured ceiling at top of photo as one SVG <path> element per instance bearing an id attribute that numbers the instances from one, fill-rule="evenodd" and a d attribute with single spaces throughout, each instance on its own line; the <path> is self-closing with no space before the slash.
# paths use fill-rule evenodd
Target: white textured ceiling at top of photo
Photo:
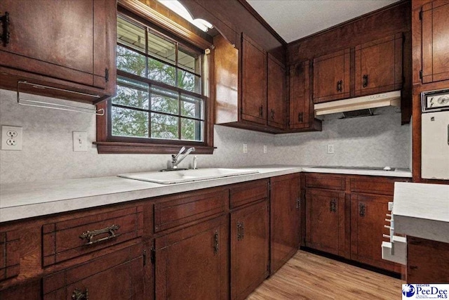
<path id="1" fill-rule="evenodd" d="M 398 0 L 246 1 L 287 43 L 290 43 Z"/>

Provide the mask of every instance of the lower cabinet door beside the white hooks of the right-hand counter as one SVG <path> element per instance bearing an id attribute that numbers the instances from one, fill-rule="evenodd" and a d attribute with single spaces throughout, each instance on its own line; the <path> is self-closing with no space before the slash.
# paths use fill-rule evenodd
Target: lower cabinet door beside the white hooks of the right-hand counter
<path id="1" fill-rule="evenodd" d="M 351 259 L 370 266 L 394 271 L 394 263 L 382 259 L 382 234 L 389 235 L 384 228 L 388 214 L 387 195 L 351 194 Z"/>

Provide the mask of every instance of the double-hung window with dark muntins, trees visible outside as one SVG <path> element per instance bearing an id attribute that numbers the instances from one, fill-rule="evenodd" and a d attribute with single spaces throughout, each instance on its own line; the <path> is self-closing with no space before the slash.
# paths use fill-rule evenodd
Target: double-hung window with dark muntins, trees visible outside
<path id="1" fill-rule="evenodd" d="M 203 65 L 199 49 L 118 15 L 117 93 L 108 116 L 113 141 L 204 144 Z"/>

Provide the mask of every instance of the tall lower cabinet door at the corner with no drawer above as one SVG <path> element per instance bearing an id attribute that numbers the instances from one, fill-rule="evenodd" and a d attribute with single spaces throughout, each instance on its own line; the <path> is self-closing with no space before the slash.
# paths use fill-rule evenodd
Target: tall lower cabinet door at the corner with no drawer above
<path id="1" fill-rule="evenodd" d="M 300 247 L 300 175 L 272 178 L 270 197 L 270 272 L 273 274 Z"/>

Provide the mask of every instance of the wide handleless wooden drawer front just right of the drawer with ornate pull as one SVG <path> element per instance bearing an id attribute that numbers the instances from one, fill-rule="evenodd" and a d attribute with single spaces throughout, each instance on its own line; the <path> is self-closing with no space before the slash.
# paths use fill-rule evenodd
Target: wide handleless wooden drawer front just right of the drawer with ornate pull
<path id="1" fill-rule="evenodd" d="M 154 204 L 154 232 L 220 214 L 227 200 L 227 190 L 163 198 L 163 202 Z"/>

